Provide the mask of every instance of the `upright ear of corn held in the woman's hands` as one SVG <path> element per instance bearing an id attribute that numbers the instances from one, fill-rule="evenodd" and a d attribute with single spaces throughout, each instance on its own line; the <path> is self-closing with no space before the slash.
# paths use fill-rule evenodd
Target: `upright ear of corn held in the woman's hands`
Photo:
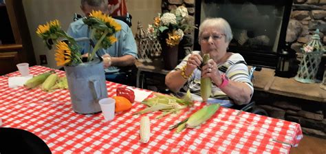
<path id="1" fill-rule="evenodd" d="M 203 63 L 204 65 L 210 59 L 209 54 L 204 54 Z M 207 99 L 212 94 L 212 81 L 210 78 L 201 78 L 200 79 L 200 95 L 202 96 L 203 102 L 206 102 Z"/>

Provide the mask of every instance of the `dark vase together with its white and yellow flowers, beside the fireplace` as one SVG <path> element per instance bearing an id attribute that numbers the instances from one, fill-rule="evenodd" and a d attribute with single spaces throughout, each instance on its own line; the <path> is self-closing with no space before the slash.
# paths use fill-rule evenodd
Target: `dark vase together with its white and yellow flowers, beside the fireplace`
<path id="1" fill-rule="evenodd" d="M 187 8 L 181 5 L 170 12 L 158 14 L 153 24 L 147 28 L 150 36 L 161 43 L 166 69 L 173 69 L 177 65 L 178 45 L 185 33 L 194 30 L 193 23 L 193 18 L 188 15 Z"/>

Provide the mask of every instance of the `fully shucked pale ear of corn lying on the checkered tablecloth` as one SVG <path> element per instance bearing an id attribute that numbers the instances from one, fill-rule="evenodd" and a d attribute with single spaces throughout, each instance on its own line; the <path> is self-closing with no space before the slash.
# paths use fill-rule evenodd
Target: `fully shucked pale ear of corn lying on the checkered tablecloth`
<path id="1" fill-rule="evenodd" d="M 143 116 L 140 120 L 140 142 L 147 143 L 151 137 L 151 123 L 148 116 Z"/>

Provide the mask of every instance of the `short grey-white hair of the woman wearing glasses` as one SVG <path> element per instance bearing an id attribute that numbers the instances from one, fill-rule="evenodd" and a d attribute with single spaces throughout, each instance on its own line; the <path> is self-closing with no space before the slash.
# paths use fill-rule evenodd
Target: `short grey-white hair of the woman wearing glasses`
<path id="1" fill-rule="evenodd" d="M 226 42 L 230 43 L 232 40 L 232 30 L 228 21 L 223 18 L 207 18 L 199 25 L 199 42 L 202 39 L 203 30 L 206 28 L 216 28 L 216 30 L 221 31 L 226 35 Z"/>

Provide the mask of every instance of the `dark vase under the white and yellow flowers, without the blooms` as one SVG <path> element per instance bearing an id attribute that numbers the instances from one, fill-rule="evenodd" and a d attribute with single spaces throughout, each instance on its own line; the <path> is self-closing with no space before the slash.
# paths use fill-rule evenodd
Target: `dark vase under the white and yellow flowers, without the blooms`
<path id="1" fill-rule="evenodd" d="M 169 46 L 165 41 L 161 43 L 164 69 L 172 70 L 177 66 L 177 53 L 179 45 Z"/>

